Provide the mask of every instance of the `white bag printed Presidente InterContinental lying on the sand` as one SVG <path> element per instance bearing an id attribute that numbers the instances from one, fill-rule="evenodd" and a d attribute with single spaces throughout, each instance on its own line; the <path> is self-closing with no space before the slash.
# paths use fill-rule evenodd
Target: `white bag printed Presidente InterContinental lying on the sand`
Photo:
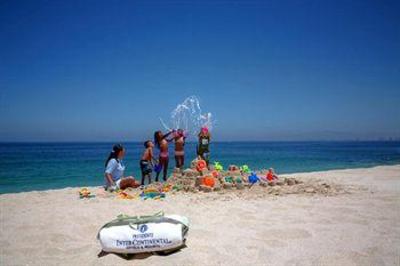
<path id="1" fill-rule="evenodd" d="M 97 238 L 105 252 L 168 254 L 185 245 L 189 220 L 180 215 L 119 215 L 100 228 Z"/>

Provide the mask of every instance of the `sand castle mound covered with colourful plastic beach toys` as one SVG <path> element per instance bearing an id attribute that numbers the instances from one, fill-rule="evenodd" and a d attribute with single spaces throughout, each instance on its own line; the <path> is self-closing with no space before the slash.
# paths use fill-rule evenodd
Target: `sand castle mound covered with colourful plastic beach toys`
<path id="1" fill-rule="evenodd" d="M 328 184 L 326 181 L 307 180 L 302 181 L 294 177 L 280 178 L 279 180 L 267 182 L 260 178 L 265 176 L 266 170 L 249 172 L 248 167 L 238 167 L 230 165 L 227 170 L 219 167 L 215 169 L 214 165 L 209 168 L 199 169 L 199 160 L 192 161 L 190 168 L 181 170 L 175 168 L 172 175 L 168 178 L 166 184 L 172 188 L 172 191 L 183 192 L 234 192 L 248 189 L 249 192 L 265 193 L 271 195 L 284 194 L 323 194 L 335 195 L 345 192 L 343 187 L 337 184 Z M 217 163 L 217 165 L 219 165 Z M 245 169 L 243 169 L 245 168 Z M 246 171 L 244 171 L 246 170 Z M 256 176 L 258 180 L 254 182 L 251 175 Z M 157 186 L 157 183 L 150 186 Z M 256 188 L 259 187 L 259 188 Z"/>

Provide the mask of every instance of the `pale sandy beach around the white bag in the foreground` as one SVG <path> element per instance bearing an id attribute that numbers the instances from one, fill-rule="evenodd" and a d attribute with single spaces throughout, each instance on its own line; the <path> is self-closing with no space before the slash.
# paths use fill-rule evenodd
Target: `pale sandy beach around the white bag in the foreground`
<path id="1" fill-rule="evenodd" d="M 168 194 L 123 200 L 77 188 L 0 195 L 0 265 L 400 265 L 400 165 L 287 175 L 342 193 Z M 254 189 L 254 191 L 253 191 Z M 169 256 L 103 257 L 98 229 L 120 213 L 185 215 L 187 247 Z"/>

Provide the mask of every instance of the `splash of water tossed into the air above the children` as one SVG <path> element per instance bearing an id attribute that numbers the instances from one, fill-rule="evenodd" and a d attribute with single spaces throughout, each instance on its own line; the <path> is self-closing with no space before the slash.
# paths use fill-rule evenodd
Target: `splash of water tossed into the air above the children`
<path id="1" fill-rule="evenodd" d="M 160 122 L 166 130 L 183 129 L 186 134 L 197 135 L 200 128 L 212 130 L 215 120 L 211 113 L 203 113 L 200 101 L 196 96 L 186 98 L 171 112 L 170 123 L 167 125 L 162 118 Z"/>

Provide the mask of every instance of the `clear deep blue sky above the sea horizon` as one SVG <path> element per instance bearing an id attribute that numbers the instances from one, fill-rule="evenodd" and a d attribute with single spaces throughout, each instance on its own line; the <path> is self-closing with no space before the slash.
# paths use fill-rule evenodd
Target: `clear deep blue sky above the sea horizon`
<path id="1" fill-rule="evenodd" d="M 0 2 L 0 141 L 400 138 L 398 1 Z"/>

